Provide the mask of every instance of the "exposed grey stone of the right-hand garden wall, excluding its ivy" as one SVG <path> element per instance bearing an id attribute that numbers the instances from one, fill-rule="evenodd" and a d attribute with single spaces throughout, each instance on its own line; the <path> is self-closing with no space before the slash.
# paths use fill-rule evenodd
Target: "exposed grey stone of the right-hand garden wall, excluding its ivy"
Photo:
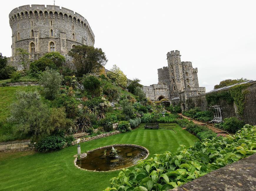
<path id="1" fill-rule="evenodd" d="M 248 91 L 248 93 L 245 94 L 245 109 L 243 116 L 239 116 L 236 104 L 234 102 L 228 103 L 226 100 L 220 99 L 216 105 L 220 105 L 222 119 L 226 117 L 237 117 L 241 120 L 244 120 L 246 123 L 250 125 L 256 124 L 256 81 L 253 81 L 251 83 L 252 85 L 249 86 L 247 89 L 243 91 Z M 221 91 L 228 91 L 228 89 L 221 90 Z M 219 92 L 219 91 L 217 91 Z M 212 93 L 216 93 L 212 92 Z M 210 105 L 208 105 L 206 100 L 206 95 L 211 93 L 205 93 L 198 96 L 192 96 L 188 100 L 191 103 L 195 104 L 195 107 L 200 107 L 202 110 L 211 110 Z M 187 105 L 185 99 L 181 99 L 183 103 L 186 105 L 186 109 L 189 108 Z"/>

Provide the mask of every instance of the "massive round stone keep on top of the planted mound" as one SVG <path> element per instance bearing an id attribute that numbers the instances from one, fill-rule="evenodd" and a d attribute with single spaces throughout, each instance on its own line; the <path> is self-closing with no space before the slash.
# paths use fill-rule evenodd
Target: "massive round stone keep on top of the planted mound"
<path id="1" fill-rule="evenodd" d="M 12 30 L 11 64 L 20 62 L 16 49 L 28 50 L 30 61 L 47 52 L 57 51 L 66 57 L 74 45 L 90 45 L 95 42 L 88 21 L 78 13 L 54 5 L 24 5 L 9 14 Z"/>

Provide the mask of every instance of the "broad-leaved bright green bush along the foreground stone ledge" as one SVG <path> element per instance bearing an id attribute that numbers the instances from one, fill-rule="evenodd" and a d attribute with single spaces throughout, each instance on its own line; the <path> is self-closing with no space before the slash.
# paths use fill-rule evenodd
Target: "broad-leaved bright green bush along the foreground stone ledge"
<path id="1" fill-rule="evenodd" d="M 111 178 L 114 190 L 169 190 L 199 178 L 213 170 L 256 153 L 256 126 L 246 125 L 234 136 L 197 141 L 189 148 L 181 145 L 177 152 L 154 154 L 132 170 L 123 169 Z"/>

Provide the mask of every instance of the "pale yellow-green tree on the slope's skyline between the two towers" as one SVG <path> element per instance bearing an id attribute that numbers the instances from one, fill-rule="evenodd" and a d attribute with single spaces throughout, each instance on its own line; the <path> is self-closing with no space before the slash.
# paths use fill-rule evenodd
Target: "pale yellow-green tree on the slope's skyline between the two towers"
<path id="1" fill-rule="evenodd" d="M 112 69 L 107 73 L 107 76 L 112 79 L 118 86 L 121 86 L 122 88 L 127 87 L 127 77 L 124 75 L 123 71 L 117 67 L 117 65 L 112 67 Z"/>

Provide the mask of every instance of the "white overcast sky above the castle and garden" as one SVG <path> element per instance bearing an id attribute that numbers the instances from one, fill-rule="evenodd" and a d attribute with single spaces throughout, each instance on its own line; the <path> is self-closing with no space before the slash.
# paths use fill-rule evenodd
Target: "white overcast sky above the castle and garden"
<path id="1" fill-rule="evenodd" d="M 53 1 L 3 1 L 0 52 L 11 56 L 9 12 L 27 4 Z M 95 35 L 94 47 L 106 53 L 129 79 L 157 83 L 166 54 L 179 50 L 182 61 L 198 68 L 206 91 L 225 79 L 256 79 L 256 1 L 55 1 L 84 16 Z"/>

